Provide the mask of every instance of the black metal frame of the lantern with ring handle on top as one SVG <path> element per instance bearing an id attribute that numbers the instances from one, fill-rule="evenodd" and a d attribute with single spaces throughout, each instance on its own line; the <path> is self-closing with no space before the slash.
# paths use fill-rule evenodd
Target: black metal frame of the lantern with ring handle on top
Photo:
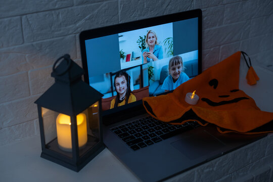
<path id="1" fill-rule="evenodd" d="M 55 68 L 57 62 L 62 59 L 63 61 L 57 66 L 57 68 Z M 82 68 L 71 60 L 69 55 L 62 56 L 54 63 L 53 66 L 53 72 L 51 75 L 52 77 L 55 77 L 55 83 L 34 102 L 37 104 L 38 109 L 42 150 L 40 157 L 60 164 L 76 172 L 82 169 L 90 160 L 92 160 L 105 148 L 103 144 L 101 116 L 101 98 L 103 95 L 81 80 L 81 75 L 83 73 L 84 71 Z M 92 147 L 89 146 L 89 149 L 88 146 L 86 146 L 85 151 L 81 152 L 82 154 L 80 154 L 76 116 L 85 110 L 87 110 L 88 115 L 92 115 L 93 112 L 90 106 L 97 102 L 99 113 L 99 141 L 96 145 Z M 55 141 L 56 145 L 57 138 L 48 144 L 45 143 L 42 108 L 70 116 L 72 152 L 61 152 L 61 149 L 60 152 L 58 152 L 58 150 L 50 149 L 49 144 L 53 144 L 52 142 Z M 89 120 L 88 117 L 87 120 Z M 90 137 L 92 136 L 87 134 L 87 141 Z M 70 157 L 64 155 L 64 153 L 69 153 Z"/>

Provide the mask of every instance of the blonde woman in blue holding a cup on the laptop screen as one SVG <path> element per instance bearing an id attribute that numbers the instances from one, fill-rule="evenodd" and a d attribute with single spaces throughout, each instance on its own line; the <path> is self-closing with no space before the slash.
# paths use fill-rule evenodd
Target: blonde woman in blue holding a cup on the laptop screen
<path id="1" fill-rule="evenodd" d="M 143 63 L 163 59 L 162 46 L 157 42 L 157 35 L 153 30 L 149 30 L 145 39 L 146 49 L 142 51 Z"/>

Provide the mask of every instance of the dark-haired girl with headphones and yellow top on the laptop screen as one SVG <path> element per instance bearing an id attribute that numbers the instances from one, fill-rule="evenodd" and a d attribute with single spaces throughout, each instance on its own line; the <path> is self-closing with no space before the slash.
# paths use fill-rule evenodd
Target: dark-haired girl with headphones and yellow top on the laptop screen
<path id="1" fill-rule="evenodd" d="M 130 76 L 125 71 L 117 72 L 114 78 L 114 87 L 117 96 L 111 101 L 110 109 L 136 101 L 130 89 Z"/>

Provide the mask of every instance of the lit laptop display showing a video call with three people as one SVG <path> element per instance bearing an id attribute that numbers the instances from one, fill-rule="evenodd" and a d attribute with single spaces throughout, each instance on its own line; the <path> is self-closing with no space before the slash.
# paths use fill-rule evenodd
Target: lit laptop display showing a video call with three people
<path id="1" fill-rule="evenodd" d="M 198 18 L 85 40 L 103 110 L 175 89 L 198 75 Z"/>

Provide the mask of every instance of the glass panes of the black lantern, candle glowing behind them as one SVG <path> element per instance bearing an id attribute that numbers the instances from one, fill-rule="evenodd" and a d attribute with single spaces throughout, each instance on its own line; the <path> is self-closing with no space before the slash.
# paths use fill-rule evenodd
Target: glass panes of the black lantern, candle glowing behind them
<path id="1" fill-rule="evenodd" d="M 41 108 L 45 148 L 72 158 L 71 116 Z M 99 102 L 79 113 L 77 133 L 79 155 L 100 142 Z"/>

